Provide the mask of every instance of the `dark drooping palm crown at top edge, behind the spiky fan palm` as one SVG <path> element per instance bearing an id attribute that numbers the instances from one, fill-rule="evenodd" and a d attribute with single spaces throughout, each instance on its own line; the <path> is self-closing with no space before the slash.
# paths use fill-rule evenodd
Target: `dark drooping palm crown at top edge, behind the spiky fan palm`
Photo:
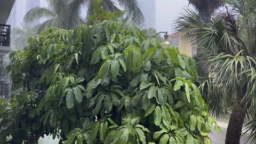
<path id="1" fill-rule="evenodd" d="M 188 0 L 188 2 L 198 10 L 199 16 L 205 23 L 210 22 L 212 13 L 222 4 L 222 0 Z"/>

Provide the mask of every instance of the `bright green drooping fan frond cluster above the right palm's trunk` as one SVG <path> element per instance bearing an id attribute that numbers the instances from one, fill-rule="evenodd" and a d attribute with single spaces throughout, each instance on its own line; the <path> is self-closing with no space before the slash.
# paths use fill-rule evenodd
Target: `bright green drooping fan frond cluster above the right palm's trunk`
<path id="1" fill-rule="evenodd" d="M 217 85 L 221 85 L 221 89 L 225 95 L 228 95 L 228 103 L 237 99 L 238 95 L 245 93 L 248 89 L 248 78 L 250 74 L 255 74 L 253 70 L 256 61 L 249 56 L 221 53 L 215 57 L 207 58 L 207 65 L 210 74 L 214 75 Z M 245 73 L 244 71 L 247 71 Z M 246 97 L 246 95 L 244 95 Z"/>

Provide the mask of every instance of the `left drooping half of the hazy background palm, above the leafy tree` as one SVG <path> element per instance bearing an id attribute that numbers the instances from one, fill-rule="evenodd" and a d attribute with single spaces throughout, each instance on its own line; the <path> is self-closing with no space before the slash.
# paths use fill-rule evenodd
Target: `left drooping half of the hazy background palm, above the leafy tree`
<path id="1" fill-rule="evenodd" d="M 48 18 L 38 26 L 38 33 L 50 26 L 73 29 L 77 25 L 84 23 L 80 16 L 82 8 L 77 0 L 49 0 L 49 3 L 52 6 L 52 10 L 45 7 L 35 7 L 29 10 L 23 19 L 27 24 L 37 19 Z"/>

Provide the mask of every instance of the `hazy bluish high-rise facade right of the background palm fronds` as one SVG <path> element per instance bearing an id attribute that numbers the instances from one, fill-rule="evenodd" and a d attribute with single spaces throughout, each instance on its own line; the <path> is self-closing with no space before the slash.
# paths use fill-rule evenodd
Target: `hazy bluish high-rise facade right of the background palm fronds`
<path id="1" fill-rule="evenodd" d="M 142 28 L 156 28 L 156 0 L 139 0 L 138 4 L 145 18 Z"/>

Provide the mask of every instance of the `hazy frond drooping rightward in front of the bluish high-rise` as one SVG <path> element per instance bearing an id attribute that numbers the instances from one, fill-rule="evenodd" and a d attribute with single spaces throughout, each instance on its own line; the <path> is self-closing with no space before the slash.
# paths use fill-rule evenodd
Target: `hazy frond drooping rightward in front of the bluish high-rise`
<path id="1" fill-rule="evenodd" d="M 131 22 L 134 25 L 140 26 L 144 22 L 143 14 L 138 6 L 137 0 L 117 0 L 119 5 L 124 7 L 126 14 L 131 17 Z"/>

